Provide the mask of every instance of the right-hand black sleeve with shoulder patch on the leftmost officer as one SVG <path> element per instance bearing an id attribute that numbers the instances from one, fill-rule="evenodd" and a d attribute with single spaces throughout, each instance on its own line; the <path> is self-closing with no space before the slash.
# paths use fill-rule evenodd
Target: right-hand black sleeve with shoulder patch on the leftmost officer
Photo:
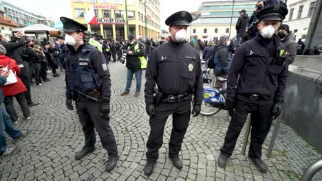
<path id="1" fill-rule="evenodd" d="M 91 60 L 93 67 L 96 69 L 98 76 L 100 76 L 102 86 L 102 99 L 109 100 L 111 97 L 111 77 L 109 74 L 109 67 L 105 60 L 105 56 L 98 49 L 93 49 Z"/>

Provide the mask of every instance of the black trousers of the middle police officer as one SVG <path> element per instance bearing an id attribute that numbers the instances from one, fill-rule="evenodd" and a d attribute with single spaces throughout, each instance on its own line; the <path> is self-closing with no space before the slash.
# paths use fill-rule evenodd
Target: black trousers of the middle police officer
<path id="1" fill-rule="evenodd" d="M 150 135 L 147 141 L 147 162 L 155 163 L 158 160 L 158 150 L 163 143 L 164 125 L 172 114 L 172 132 L 169 141 L 169 157 L 177 158 L 181 150 L 182 140 L 188 129 L 191 113 L 191 99 L 178 103 L 162 102 L 155 107 L 155 117 L 150 117 Z"/>

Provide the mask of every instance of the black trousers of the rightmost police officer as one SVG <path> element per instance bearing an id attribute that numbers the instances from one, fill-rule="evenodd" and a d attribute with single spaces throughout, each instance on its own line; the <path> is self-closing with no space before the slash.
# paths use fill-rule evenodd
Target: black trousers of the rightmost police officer
<path id="1" fill-rule="evenodd" d="M 247 114 L 251 114 L 252 126 L 250 132 L 250 147 L 248 155 L 254 158 L 261 158 L 261 146 L 270 131 L 272 125 L 272 107 L 274 100 L 251 100 L 249 97 L 238 95 L 235 104 L 236 116 L 230 120 L 226 132 L 225 142 L 220 152 L 230 156 L 235 149 L 237 138 L 247 119 Z"/>

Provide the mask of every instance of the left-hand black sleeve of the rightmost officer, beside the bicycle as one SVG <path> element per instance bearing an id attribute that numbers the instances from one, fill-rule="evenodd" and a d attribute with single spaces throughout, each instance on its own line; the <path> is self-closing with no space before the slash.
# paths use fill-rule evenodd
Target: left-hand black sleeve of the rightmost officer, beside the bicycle
<path id="1" fill-rule="evenodd" d="M 243 46 L 244 45 L 244 46 Z M 227 99 L 235 100 L 237 93 L 236 93 L 236 86 L 237 86 L 237 78 L 239 72 L 244 67 L 246 63 L 246 56 L 245 56 L 245 45 L 241 44 L 239 49 L 237 49 L 235 56 L 231 62 L 228 77 L 227 77 Z"/>

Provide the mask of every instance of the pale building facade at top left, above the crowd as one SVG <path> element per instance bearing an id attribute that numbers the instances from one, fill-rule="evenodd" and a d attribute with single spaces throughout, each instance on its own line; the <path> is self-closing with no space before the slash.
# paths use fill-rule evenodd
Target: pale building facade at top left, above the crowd
<path id="1" fill-rule="evenodd" d="M 5 12 L 5 16 L 12 19 L 14 23 L 17 23 L 21 27 L 34 25 L 36 23 L 41 23 L 44 25 L 50 25 L 51 22 L 47 21 L 45 16 L 40 16 L 33 14 L 27 10 L 17 7 L 7 1 L 0 0 L 0 10 Z"/>

